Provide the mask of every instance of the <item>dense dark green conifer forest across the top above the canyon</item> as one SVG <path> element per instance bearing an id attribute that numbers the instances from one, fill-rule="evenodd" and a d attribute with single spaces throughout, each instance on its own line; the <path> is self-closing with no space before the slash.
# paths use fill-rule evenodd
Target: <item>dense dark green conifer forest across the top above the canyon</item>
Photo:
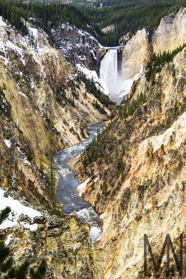
<path id="1" fill-rule="evenodd" d="M 98 8 L 100 4 L 102 7 Z M 94 7 L 87 7 L 85 1 L 83 5 L 82 2 L 74 2 L 73 5 L 61 2 L 44 4 L 1 0 L 0 15 L 24 35 L 27 28 L 21 17 L 27 21 L 34 21 L 34 24 L 41 27 L 50 37 L 51 29 L 68 22 L 94 35 L 102 45 L 112 47 L 119 44 L 119 39 L 124 34 L 134 34 L 144 27 L 151 35 L 163 16 L 177 12 L 181 6 L 186 6 L 186 0 L 104 0 L 101 3 L 94 2 Z M 110 24 L 114 24 L 114 30 L 103 33 L 101 30 Z"/>

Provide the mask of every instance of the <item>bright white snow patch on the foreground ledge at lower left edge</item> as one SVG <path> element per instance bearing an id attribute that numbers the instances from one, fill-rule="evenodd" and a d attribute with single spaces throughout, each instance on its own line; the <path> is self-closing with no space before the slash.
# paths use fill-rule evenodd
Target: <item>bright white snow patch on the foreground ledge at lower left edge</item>
<path id="1" fill-rule="evenodd" d="M 0 225 L 1 230 L 17 226 L 18 225 L 17 220 L 21 214 L 27 215 L 31 219 L 31 221 L 33 221 L 35 217 L 42 216 L 42 214 L 39 211 L 22 205 L 18 200 L 14 200 L 12 197 L 4 197 L 4 193 L 5 191 L 0 189 L 0 210 L 3 210 L 6 206 L 9 206 L 11 208 L 11 212 L 14 211 L 14 215 L 12 216 L 10 212 L 8 219 L 6 219 Z M 33 227 L 30 226 L 29 229 L 35 230 L 34 228 L 36 228 L 36 224 L 33 225 L 32 225 Z"/>

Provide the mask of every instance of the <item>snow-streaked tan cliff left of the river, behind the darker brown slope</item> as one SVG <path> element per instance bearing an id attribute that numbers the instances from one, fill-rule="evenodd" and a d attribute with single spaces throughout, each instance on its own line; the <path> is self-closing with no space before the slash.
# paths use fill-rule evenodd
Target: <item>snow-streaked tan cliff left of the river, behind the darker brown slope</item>
<path id="1" fill-rule="evenodd" d="M 87 92 L 85 98 L 86 89 L 79 82 L 74 84 L 77 69 L 49 45 L 46 34 L 30 24 L 28 28 L 29 35 L 24 38 L 11 26 L 0 26 L 0 85 L 7 85 L 4 93 L 13 121 L 29 140 L 38 165 L 40 160 L 46 163 L 49 117 L 56 128 L 55 148 L 59 150 L 83 140 L 81 130 L 87 137 L 87 124 L 107 116 L 93 106 L 93 94 Z M 72 83 L 74 87 L 70 87 Z M 78 94 L 73 106 L 72 94 Z"/>

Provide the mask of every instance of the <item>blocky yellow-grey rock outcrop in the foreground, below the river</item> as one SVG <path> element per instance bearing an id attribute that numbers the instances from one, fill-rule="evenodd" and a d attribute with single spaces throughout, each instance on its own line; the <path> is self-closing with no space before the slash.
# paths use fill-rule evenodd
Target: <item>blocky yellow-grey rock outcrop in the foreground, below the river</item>
<path id="1" fill-rule="evenodd" d="M 31 206 L 28 198 L 7 190 L 5 197 L 13 196 L 29 208 L 42 214 L 33 222 L 26 215 L 20 215 L 18 224 L 0 231 L 0 239 L 10 236 L 11 256 L 15 266 L 29 259 L 37 267 L 42 258 L 47 259 L 45 278 L 97 279 L 103 278 L 101 249 L 90 242 L 90 227 L 83 224 L 77 215 L 49 215 L 42 206 Z M 36 225 L 37 230 L 28 230 Z"/>

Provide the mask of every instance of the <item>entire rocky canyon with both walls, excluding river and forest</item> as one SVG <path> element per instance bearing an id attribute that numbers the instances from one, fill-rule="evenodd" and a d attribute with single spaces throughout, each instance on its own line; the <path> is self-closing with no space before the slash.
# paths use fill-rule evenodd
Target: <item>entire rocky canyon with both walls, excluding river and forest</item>
<path id="1" fill-rule="evenodd" d="M 162 18 L 152 37 L 142 29 L 125 45 L 109 49 L 69 24 L 52 30 L 53 44 L 29 22 L 23 36 L 0 18 L 0 194 L 38 212 L 33 219 L 15 212 L 17 223 L 0 227 L 1 239 L 10 238 L 16 266 L 28 257 L 36 267 L 44 257 L 46 278 L 143 278 L 144 233 L 156 256 L 167 233 L 179 248 L 186 216 L 186 47 L 155 73 L 154 83 L 146 64 L 154 52 L 185 43 L 185 20 L 181 8 Z M 125 98 L 119 96 L 115 106 L 100 93 L 103 88 L 111 98 Z M 83 183 L 80 195 L 103 223 L 94 242 L 91 226 L 76 213 L 66 215 L 60 204 L 60 215 L 49 212 L 48 134 L 51 121 L 57 152 L 88 139 L 88 126 L 104 120 L 97 140 L 69 163 Z M 9 219 L 15 221 L 13 211 Z M 33 225 L 37 229 L 29 229 Z M 157 278 L 165 278 L 165 260 Z M 148 257 L 148 277 L 153 276 Z"/>

